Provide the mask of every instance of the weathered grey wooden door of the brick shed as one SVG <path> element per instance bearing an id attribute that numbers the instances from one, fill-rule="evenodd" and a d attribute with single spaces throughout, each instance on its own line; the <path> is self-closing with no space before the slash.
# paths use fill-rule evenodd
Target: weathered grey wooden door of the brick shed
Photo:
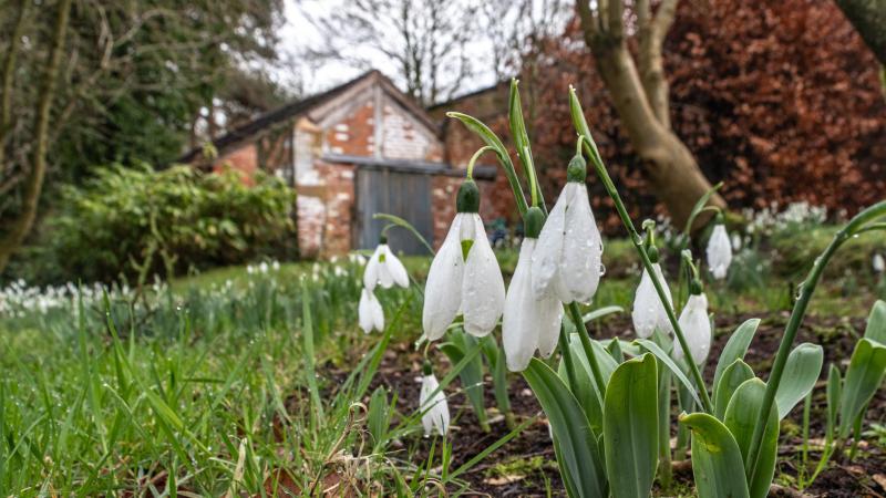
<path id="1" fill-rule="evenodd" d="M 375 212 L 396 215 L 406 221 L 430 243 L 433 239 L 431 216 L 430 176 L 390 169 L 357 169 L 357 234 L 354 240 L 360 249 L 374 249 L 381 229 L 388 221 L 372 219 Z M 427 249 L 408 230 L 388 230 L 388 242 L 394 252 L 426 255 Z"/>

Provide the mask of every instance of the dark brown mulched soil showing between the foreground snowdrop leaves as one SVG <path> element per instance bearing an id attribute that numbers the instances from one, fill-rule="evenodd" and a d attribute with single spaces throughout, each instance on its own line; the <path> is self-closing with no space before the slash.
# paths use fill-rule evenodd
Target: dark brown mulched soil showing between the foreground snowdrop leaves
<path id="1" fill-rule="evenodd" d="M 770 314 L 761 323 L 745 357 L 745 361 L 755 372 L 759 373 L 770 369 L 787 317 L 786 312 L 774 317 Z M 752 318 L 752 315 L 717 318 L 718 335 L 711 351 L 712 359 L 718 357 L 719 352 L 729 339 L 729 334 L 735 326 L 749 318 Z M 855 342 L 864 333 L 864 318 L 807 317 L 800 330 L 796 344 L 801 342 L 822 344 L 825 352 L 822 382 L 816 386 L 813 397 L 811 417 L 811 438 L 813 440 L 823 439 L 824 437 L 825 390 L 823 381 L 828 364 L 835 363 L 839 365 L 841 371 L 845 372 L 845 366 L 848 363 Z M 628 314 L 610 318 L 601 324 L 596 324 L 593 326 L 591 333 L 597 338 L 619 336 L 625 340 L 633 338 Z M 439 359 L 445 362 L 443 354 L 440 354 Z M 715 363 L 711 362 L 705 369 L 704 375 L 707 378 L 713 377 L 714 366 Z M 406 413 L 414 409 L 418 404 L 420 371 L 421 357 L 411 349 L 411 344 L 393 345 L 387 352 L 374 383 L 396 391 L 400 398 L 398 409 L 401 413 Z M 441 372 L 445 372 L 445 369 L 441 369 Z M 486 406 L 490 408 L 495 406 L 495 401 L 488 378 L 487 386 L 484 391 Z M 453 393 L 457 390 L 456 380 L 453 386 L 447 388 L 447 393 Z M 540 414 L 539 419 L 508 444 L 487 456 L 468 473 L 461 476 L 471 485 L 472 494 L 470 496 L 547 496 L 548 489 L 553 496 L 565 496 L 563 483 L 556 469 L 554 448 L 550 444 L 544 414 L 532 391 L 519 375 L 512 376 L 511 401 L 517 416 L 517 423 Z M 462 393 L 452 394 L 449 403 L 453 414 L 451 440 L 454 445 L 454 461 L 452 468 L 456 468 L 467 461 L 508 433 L 503 418 L 495 416 L 494 408 L 490 411 L 492 430 L 484 433 L 477 424 L 470 403 Z M 796 465 L 800 461 L 802 412 L 801 403 L 782 425 L 780 445 L 782 455 L 776 469 L 776 483 L 780 481 L 787 488 L 790 488 L 791 478 L 796 476 Z M 882 424 L 884 418 L 886 418 L 886 390 L 880 388 L 870 403 L 865 427 L 869 427 L 872 422 Z M 858 455 L 852 463 L 846 461 L 845 457 L 838 458 L 835 456 L 832 458 L 830 468 L 823 471 L 814 485 L 804 491 L 805 495 L 796 492 L 789 492 L 789 495 L 815 497 L 886 496 L 886 452 L 884 452 L 884 447 L 876 444 L 874 438 L 868 439 L 870 440 L 865 440 L 861 444 Z M 408 442 L 406 444 L 413 443 Z M 418 442 L 418 444 L 419 457 L 426 456 L 431 440 L 424 439 Z M 818 452 L 811 452 L 810 465 L 817 464 L 818 458 Z M 682 489 L 682 496 L 691 492 L 691 470 L 676 470 L 674 478 L 677 487 Z M 787 489 L 787 491 L 791 490 Z"/>

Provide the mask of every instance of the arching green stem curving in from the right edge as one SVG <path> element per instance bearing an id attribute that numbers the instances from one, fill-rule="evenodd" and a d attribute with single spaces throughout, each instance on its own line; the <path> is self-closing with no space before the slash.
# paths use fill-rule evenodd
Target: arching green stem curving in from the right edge
<path id="1" fill-rule="evenodd" d="M 845 227 L 834 235 L 834 239 L 831 240 L 831 243 L 827 245 L 824 252 L 815 259 L 815 263 L 812 266 L 808 277 L 806 277 L 806 280 L 801 284 L 800 297 L 796 303 L 794 303 L 791 319 L 787 321 L 784 334 L 782 334 L 782 342 L 775 355 L 775 363 L 773 363 L 772 371 L 766 381 L 763 405 L 760 407 L 761 414 L 769 414 L 770 409 L 772 409 L 772 404 L 775 402 L 775 392 L 779 390 L 782 374 L 784 374 L 784 365 L 787 363 L 787 355 L 791 353 L 791 346 L 794 343 L 797 330 L 800 330 L 800 324 L 803 322 L 803 317 L 806 314 L 806 308 L 812 299 L 812 293 L 815 291 L 815 287 L 818 284 L 818 280 L 822 278 L 827 262 L 831 261 L 831 258 L 837 249 L 851 237 L 869 231 L 872 227 L 878 226 L 879 224 L 868 225 L 868 222 L 882 216 L 886 216 L 886 200 L 882 200 L 856 215 Z M 763 440 L 766 418 L 767 417 L 761 416 L 758 418 L 756 424 L 754 424 L 751 446 L 749 447 L 748 458 L 744 463 L 745 469 L 750 469 L 746 470 L 750 479 L 753 479 L 754 473 L 756 471 L 756 461 L 760 456 L 760 445 Z"/>

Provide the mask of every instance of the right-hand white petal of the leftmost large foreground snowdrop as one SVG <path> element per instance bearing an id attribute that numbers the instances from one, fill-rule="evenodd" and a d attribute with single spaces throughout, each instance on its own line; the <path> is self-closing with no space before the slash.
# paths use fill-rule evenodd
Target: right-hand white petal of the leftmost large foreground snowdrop
<path id="1" fill-rule="evenodd" d="M 467 253 L 462 279 L 464 330 L 477 338 L 495 329 L 505 307 L 505 281 L 495 252 L 486 238 L 483 220 L 472 214 L 464 222 L 474 224 L 474 243 Z M 425 299 L 429 299 L 425 295 Z"/>

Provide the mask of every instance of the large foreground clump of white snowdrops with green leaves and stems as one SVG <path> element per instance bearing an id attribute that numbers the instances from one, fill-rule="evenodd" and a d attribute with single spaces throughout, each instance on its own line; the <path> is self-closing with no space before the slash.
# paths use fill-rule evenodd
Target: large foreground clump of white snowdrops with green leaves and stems
<path id="1" fill-rule="evenodd" d="M 422 317 L 424 336 L 429 341 L 443 338 L 461 315 L 468 334 L 485 338 L 501 319 L 507 367 L 523 373 L 549 419 L 560 475 L 571 497 L 645 497 L 657 476 L 662 486 L 669 485 L 671 386 L 682 412 L 677 457 L 687 454 L 687 446 L 691 449 L 699 496 L 766 496 L 775 470 L 779 422 L 808 395 L 822 369 L 820 345 L 794 346 L 797 329 L 824 267 L 841 245 L 859 234 L 886 228 L 877 221 L 886 215 L 886 201 L 853 218 L 816 259 L 799 288 L 772 371 L 764 380 L 743 361 L 759 320 L 740 324 L 720 356 L 708 357 L 711 321 L 701 262 L 689 250 L 681 253 L 680 279 L 686 277 L 688 295 L 686 302 L 674 302 L 659 264 L 655 225 L 645 222 L 643 234 L 637 230 L 606 170 L 575 91 L 570 91 L 569 105 L 577 131 L 576 155 L 550 212 L 536 181 L 516 82 L 511 87 L 509 124 L 528 184 L 528 200 L 503 142 L 478 120 L 450 113 L 486 146 L 467 167 L 456 197 L 457 215 L 431 266 Z M 507 289 L 485 237 L 478 215 L 482 199 L 472 178 L 476 157 L 488 152 L 504 168 L 526 231 Z M 602 242 L 585 187 L 587 158 L 642 262 L 632 312 L 638 339 L 632 342 L 594 340 L 584 326 L 576 326 L 585 323 L 581 307 L 593 300 L 602 274 Z M 699 199 L 693 219 L 710 209 L 705 206 L 709 196 Z M 715 216 L 705 256 L 708 270 L 720 279 L 730 264 L 732 245 L 722 218 Z M 573 330 L 576 332 L 567 333 Z M 869 400 L 872 385 L 874 390 L 878 385 L 876 376 L 882 380 L 886 369 L 886 345 L 875 339 L 863 342 L 863 354 L 853 361 L 863 364 L 867 375 L 858 374 L 863 366 L 857 366 L 852 378 L 847 373 L 842 383 L 847 406 L 844 424 L 857 416 L 856 406 Z M 556 371 L 534 357 L 536 351 L 543 359 L 550 357 L 557 349 L 560 364 Z M 708 361 L 717 362 L 710 385 L 701 375 Z M 446 422 L 441 419 L 429 421 L 430 427 Z M 847 426 L 841 425 L 841 436 L 846 435 Z"/>

